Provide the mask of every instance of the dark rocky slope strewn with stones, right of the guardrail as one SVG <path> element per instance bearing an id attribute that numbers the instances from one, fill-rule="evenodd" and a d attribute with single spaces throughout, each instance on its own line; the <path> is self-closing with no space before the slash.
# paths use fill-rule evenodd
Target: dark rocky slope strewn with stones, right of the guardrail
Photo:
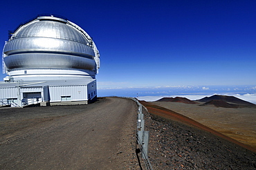
<path id="1" fill-rule="evenodd" d="M 154 169 L 256 169 L 253 151 L 194 126 L 143 113 Z"/>

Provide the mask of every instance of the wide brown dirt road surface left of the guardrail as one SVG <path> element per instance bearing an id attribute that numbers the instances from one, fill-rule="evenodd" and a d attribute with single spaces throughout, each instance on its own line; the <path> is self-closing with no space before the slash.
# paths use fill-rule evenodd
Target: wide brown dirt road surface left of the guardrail
<path id="1" fill-rule="evenodd" d="M 0 169 L 137 169 L 136 104 L 0 110 Z"/>

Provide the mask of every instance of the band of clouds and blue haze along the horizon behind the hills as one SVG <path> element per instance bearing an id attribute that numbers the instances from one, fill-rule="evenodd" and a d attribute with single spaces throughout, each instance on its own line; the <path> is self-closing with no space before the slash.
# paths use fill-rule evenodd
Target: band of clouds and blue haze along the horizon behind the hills
<path id="1" fill-rule="evenodd" d="M 256 85 L 246 86 L 152 86 L 126 88 L 98 88 L 98 97 L 137 97 L 152 102 L 162 97 L 186 97 L 199 100 L 212 95 L 230 95 L 256 104 Z"/>

